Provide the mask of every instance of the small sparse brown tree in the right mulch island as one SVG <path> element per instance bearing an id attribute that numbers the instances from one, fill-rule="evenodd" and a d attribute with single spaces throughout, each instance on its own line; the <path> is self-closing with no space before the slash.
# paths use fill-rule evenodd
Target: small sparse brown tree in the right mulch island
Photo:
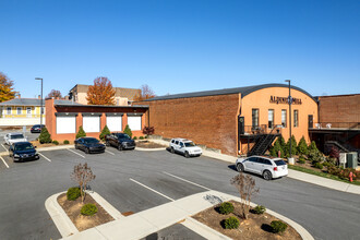
<path id="1" fill-rule="evenodd" d="M 244 176 L 240 172 L 230 180 L 230 183 L 235 185 L 240 193 L 241 217 L 248 219 L 251 197 L 259 193 L 259 188 L 255 188 L 255 180 L 251 176 Z"/>

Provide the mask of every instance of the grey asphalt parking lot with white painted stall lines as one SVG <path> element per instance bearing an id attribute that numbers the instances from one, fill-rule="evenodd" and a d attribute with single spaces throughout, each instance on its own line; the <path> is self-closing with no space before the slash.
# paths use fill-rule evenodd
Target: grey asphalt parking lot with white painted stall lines
<path id="1" fill-rule="evenodd" d="M 2 159 L 1 239 L 59 239 L 61 236 L 44 203 L 50 195 L 76 184 L 70 173 L 79 163 L 88 163 L 96 175 L 92 189 L 121 213 L 139 213 L 209 189 L 238 195 L 230 184 L 237 175 L 233 165 L 204 156 L 184 158 L 167 151 L 119 152 L 108 147 L 104 154 L 86 155 L 69 148 L 40 152 L 40 159 L 34 161 L 12 163 L 9 156 Z M 316 239 L 359 238 L 358 195 L 290 178 L 273 181 L 254 178 L 260 194 L 253 202 L 299 223 Z M 344 226 L 339 228 L 338 223 Z M 197 239 L 179 226 L 164 229 L 157 236 L 173 231 Z"/>

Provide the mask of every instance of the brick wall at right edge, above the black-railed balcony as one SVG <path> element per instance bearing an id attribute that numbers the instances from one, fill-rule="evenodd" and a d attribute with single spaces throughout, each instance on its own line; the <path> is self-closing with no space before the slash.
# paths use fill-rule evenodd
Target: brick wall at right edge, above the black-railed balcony
<path id="1" fill-rule="evenodd" d="M 360 122 L 360 94 L 319 97 L 319 122 Z"/>

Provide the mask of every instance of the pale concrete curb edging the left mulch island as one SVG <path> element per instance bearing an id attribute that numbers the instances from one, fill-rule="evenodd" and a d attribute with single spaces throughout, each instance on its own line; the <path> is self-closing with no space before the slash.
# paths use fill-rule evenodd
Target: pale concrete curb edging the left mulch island
<path id="1" fill-rule="evenodd" d="M 80 231 L 77 230 L 75 225 L 71 221 L 71 219 L 68 217 L 67 213 L 62 209 L 60 204 L 58 203 L 58 196 L 61 195 L 62 193 L 67 193 L 67 192 L 64 191 L 49 196 L 45 201 L 45 208 L 49 213 L 55 225 L 57 226 L 61 237 L 65 238 L 75 235 Z M 96 192 L 86 191 L 86 193 L 88 193 L 116 220 L 124 217 L 121 215 L 121 213 L 118 209 L 116 209 L 110 203 L 108 203 Z"/>

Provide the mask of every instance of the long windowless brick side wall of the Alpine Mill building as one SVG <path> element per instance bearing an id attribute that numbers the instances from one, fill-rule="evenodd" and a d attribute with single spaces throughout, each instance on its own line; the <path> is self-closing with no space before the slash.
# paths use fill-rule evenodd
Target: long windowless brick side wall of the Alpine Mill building
<path id="1" fill-rule="evenodd" d="M 184 137 L 237 155 L 240 94 L 139 103 L 149 105 L 149 125 L 164 137 Z"/>

